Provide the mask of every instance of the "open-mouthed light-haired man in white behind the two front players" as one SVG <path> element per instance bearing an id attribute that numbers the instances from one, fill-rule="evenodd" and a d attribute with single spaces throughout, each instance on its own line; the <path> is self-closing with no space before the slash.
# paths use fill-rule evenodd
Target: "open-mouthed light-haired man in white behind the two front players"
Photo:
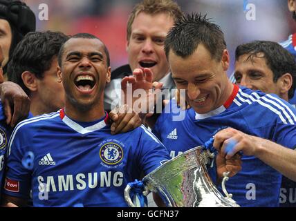
<path id="1" fill-rule="evenodd" d="M 111 81 L 105 89 L 104 108 L 109 111 L 120 104 L 123 77 L 132 75 L 135 68 L 151 68 L 154 81 L 167 88 L 167 99 L 174 97 L 176 88 L 165 57 L 164 42 L 169 29 L 183 15 L 172 0 L 143 0 L 138 3 L 127 21 L 127 54 L 129 64 L 111 73 Z"/>

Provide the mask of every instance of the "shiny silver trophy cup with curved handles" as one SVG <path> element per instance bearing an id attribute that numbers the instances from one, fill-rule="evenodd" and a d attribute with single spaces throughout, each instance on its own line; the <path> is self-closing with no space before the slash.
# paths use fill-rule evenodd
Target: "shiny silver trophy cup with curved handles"
<path id="1" fill-rule="evenodd" d="M 239 207 L 225 188 L 228 173 L 223 174 L 221 184 L 225 196 L 216 189 L 206 168 L 214 156 L 203 148 L 192 148 L 146 175 L 142 179 L 145 185 L 142 194 L 158 193 L 169 207 Z M 129 206 L 135 207 L 130 191 L 131 186 L 127 185 L 124 198 Z"/>

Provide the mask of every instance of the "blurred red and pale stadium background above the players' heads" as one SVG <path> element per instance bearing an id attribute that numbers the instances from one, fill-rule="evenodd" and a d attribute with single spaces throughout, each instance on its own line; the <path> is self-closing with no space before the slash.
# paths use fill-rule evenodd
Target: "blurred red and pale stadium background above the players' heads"
<path id="1" fill-rule="evenodd" d="M 140 0 L 23 0 L 37 15 L 37 30 L 62 31 L 66 35 L 89 32 L 107 45 L 114 70 L 127 64 L 126 28 L 129 12 Z M 201 12 L 212 18 L 225 33 L 233 71 L 234 50 L 242 43 L 259 40 L 285 41 L 296 32 L 296 21 L 288 11 L 286 0 L 178 0 L 182 10 Z M 41 4 L 48 6 L 48 20 Z M 248 20 L 247 5 L 255 6 Z M 40 15 L 39 15 L 40 14 Z M 250 14 L 249 14 L 250 15 Z"/>

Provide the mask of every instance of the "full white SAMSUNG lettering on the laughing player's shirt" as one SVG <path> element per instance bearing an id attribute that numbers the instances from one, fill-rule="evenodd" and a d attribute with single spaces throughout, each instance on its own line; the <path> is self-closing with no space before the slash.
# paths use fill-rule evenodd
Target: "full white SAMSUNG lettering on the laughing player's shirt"
<path id="1" fill-rule="evenodd" d="M 78 173 L 77 175 L 58 175 L 43 177 L 39 175 L 37 177 L 39 183 L 39 191 L 57 192 L 57 191 L 73 191 L 84 190 L 86 188 L 96 187 L 109 187 L 109 186 L 122 186 L 123 173 L 117 172 L 100 172 L 100 173 Z"/>

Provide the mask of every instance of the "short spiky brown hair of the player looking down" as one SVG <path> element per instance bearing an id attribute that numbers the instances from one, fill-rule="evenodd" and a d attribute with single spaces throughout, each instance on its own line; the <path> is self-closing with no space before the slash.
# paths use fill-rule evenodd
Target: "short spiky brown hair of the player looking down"
<path id="1" fill-rule="evenodd" d="M 221 61 L 226 43 L 220 27 L 206 19 L 206 15 L 185 15 L 169 31 L 165 39 L 165 55 L 168 58 L 169 50 L 172 50 L 185 58 L 192 55 L 199 44 L 209 50 L 212 58 Z"/>

